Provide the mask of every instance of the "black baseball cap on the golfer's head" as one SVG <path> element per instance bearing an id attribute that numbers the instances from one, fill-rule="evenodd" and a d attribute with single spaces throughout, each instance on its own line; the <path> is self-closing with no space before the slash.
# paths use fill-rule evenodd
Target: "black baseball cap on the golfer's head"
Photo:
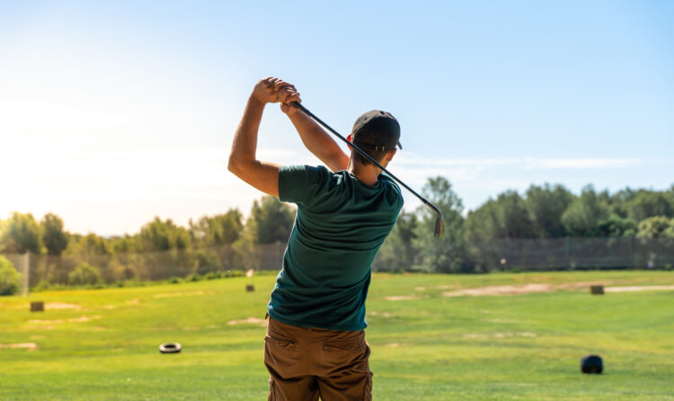
<path id="1" fill-rule="evenodd" d="M 390 112 L 371 110 L 363 113 L 353 124 L 351 142 L 358 147 L 389 151 L 400 145 L 400 124 Z"/>

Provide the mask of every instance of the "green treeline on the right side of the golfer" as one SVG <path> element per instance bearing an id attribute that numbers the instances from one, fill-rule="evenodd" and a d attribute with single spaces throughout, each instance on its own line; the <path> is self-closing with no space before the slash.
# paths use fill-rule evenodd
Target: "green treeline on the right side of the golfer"
<path id="1" fill-rule="evenodd" d="M 435 216 L 428 208 L 404 212 L 382 247 L 377 270 L 486 272 L 497 264 L 507 264 L 501 257 L 495 258 L 508 253 L 511 239 L 543 244 L 545 239 L 554 243 L 554 238 L 573 237 L 577 242 L 588 238 L 584 243 L 590 244 L 590 238 L 632 237 L 642 242 L 646 238 L 674 238 L 674 185 L 664 192 L 626 188 L 615 193 L 597 192 L 589 185 L 578 196 L 562 185 L 531 185 L 522 194 L 502 192 L 466 217 L 463 203 L 447 179 L 430 179 L 423 194 L 442 210 L 445 236 L 433 239 Z M 583 251 L 608 257 L 623 243 L 595 241 L 595 249 Z M 506 249 L 495 252 L 495 244 Z M 549 266 L 559 267 L 554 263 Z"/>

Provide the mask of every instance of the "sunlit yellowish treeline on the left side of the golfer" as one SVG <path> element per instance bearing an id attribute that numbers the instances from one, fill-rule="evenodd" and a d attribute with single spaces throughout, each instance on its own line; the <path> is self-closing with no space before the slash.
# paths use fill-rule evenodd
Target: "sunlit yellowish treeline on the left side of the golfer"
<path id="1" fill-rule="evenodd" d="M 134 235 L 106 238 L 69 233 L 52 213 L 37 220 L 13 212 L 0 220 L 0 253 L 10 261 L 30 253 L 31 287 L 40 288 L 212 277 L 270 268 L 271 260 L 279 265 L 295 210 L 264 197 L 253 202 L 249 216 L 244 219 L 238 209 L 230 209 L 190 220 L 187 227 L 155 218 Z"/>

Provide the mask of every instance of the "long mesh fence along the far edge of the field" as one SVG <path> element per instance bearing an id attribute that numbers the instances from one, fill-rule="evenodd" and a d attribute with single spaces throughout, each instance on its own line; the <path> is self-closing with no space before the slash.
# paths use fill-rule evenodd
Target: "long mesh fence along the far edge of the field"
<path id="1" fill-rule="evenodd" d="M 403 244 L 405 249 L 412 246 Z M 221 246 L 119 254 L 4 254 L 23 274 L 24 288 L 40 281 L 67 284 L 70 274 L 81 263 L 99 272 L 101 281 L 156 281 L 190 274 L 227 270 L 272 270 L 281 267 L 285 244 Z M 410 252 L 412 252 L 410 251 Z M 382 252 L 374 268 L 387 270 Z M 389 260 L 390 260 L 390 255 Z M 423 255 L 416 255 L 423 256 Z M 550 238 L 503 239 L 488 244 L 464 245 L 468 271 L 519 269 L 522 271 L 567 269 L 672 269 L 674 238 Z M 412 258 L 408 258 L 412 259 Z M 407 270 L 412 269 L 408 266 Z"/>

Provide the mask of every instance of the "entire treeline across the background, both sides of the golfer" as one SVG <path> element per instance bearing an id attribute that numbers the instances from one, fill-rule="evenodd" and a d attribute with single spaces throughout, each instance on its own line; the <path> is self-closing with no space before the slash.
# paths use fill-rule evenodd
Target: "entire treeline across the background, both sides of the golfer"
<path id="1" fill-rule="evenodd" d="M 674 186 L 615 193 L 588 186 L 575 195 L 562 185 L 531 185 L 521 194 L 503 192 L 467 216 L 446 178 L 429 179 L 422 192 L 442 210 L 445 236 L 433 237 L 430 209 L 404 211 L 377 256 L 377 271 L 485 272 L 502 253 L 484 246 L 510 239 L 674 237 Z M 106 238 L 68 233 L 55 214 L 37 220 L 14 212 L 0 220 L 0 253 L 10 259 L 32 254 L 33 287 L 275 270 L 294 218 L 288 204 L 264 197 L 253 202 L 247 219 L 238 209 L 191 220 L 187 227 L 155 218 L 134 235 Z"/>

